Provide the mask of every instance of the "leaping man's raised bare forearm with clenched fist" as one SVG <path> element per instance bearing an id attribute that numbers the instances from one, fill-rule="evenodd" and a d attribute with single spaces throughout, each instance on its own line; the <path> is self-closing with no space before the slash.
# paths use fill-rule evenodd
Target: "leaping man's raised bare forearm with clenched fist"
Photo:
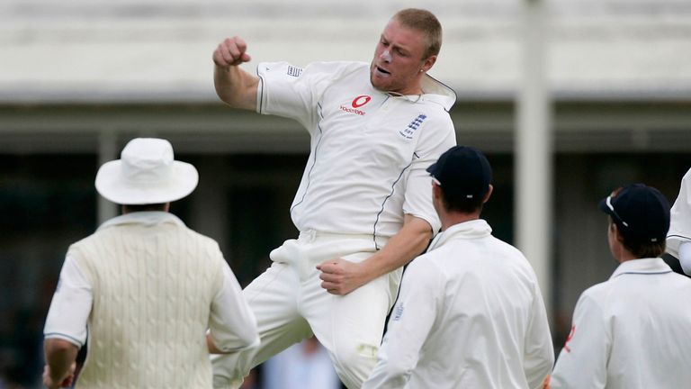
<path id="1" fill-rule="evenodd" d="M 240 37 L 226 38 L 213 52 L 213 83 L 220 99 L 233 108 L 256 111 L 256 91 L 259 77 L 252 76 L 239 65 L 251 58 L 247 43 Z"/>

